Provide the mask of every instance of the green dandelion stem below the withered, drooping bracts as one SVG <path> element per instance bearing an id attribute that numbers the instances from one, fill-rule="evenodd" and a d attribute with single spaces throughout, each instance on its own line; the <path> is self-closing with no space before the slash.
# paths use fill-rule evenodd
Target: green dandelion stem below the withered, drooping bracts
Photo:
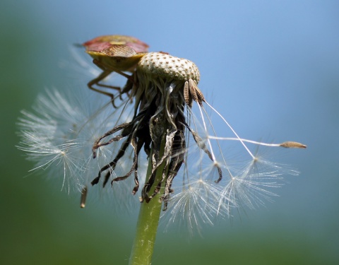
<path id="1" fill-rule="evenodd" d="M 165 137 L 162 139 L 160 157 L 164 151 L 164 141 Z M 162 165 L 160 165 L 160 167 L 157 169 L 155 182 L 150 191 L 153 191 L 157 183 L 162 179 L 164 167 L 165 163 L 162 163 Z M 151 172 L 152 161 L 150 159 L 150 162 L 148 163 L 147 176 L 150 176 Z M 149 265 L 150 261 L 152 260 L 155 237 L 157 235 L 157 226 L 159 224 L 162 207 L 162 202 L 159 200 L 162 189 L 160 189 L 160 192 L 148 203 L 143 201 L 141 204 L 138 223 L 136 225 L 136 237 L 134 238 L 129 265 Z"/>

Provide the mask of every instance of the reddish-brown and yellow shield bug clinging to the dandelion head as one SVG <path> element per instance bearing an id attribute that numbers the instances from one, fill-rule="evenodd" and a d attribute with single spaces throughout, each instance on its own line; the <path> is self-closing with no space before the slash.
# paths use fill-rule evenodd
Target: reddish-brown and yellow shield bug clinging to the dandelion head
<path id="1" fill-rule="evenodd" d="M 88 88 L 98 93 L 108 95 L 112 98 L 114 105 L 114 95 L 112 93 L 107 93 L 93 86 L 113 88 L 121 92 L 119 87 L 107 86 L 99 82 L 112 72 L 117 72 L 130 79 L 131 76 L 124 73 L 124 71 L 133 71 L 136 69 L 138 61 L 140 61 L 148 51 L 148 45 L 135 37 L 105 35 L 95 37 L 93 40 L 83 43 L 83 46 L 86 48 L 86 52 L 93 58 L 93 63 L 102 69 L 102 73 L 88 83 Z"/>

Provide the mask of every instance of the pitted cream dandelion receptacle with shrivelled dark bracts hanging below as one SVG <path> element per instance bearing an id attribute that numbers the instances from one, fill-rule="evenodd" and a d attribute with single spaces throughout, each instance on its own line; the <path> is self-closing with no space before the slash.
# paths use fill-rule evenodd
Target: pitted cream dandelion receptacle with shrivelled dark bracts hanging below
<path id="1" fill-rule="evenodd" d="M 131 145 L 134 150 L 131 170 L 124 176 L 114 178 L 112 182 L 126 179 L 134 172 L 136 186 L 132 193 L 135 194 L 139 187 L 138 155 L 141 148 L 144 148 L 148 155 L 152 150 L 150 158 L 152 172 L 150 176 L 147 176 L 141 201 L 149 201 L 160 191 L 162 184 L 165 184 L 165 192 L 162 198 L 165 201 L 166 208 L 169 194 L 172 192 L 173 179 L 184 162 L 184 154 L 186 153 L 185 129 L 191 132 L 197 145 L 206 152 L 211 160 L 214 160 L 213 155 L 201 141 L 200 136 L 189 127 L 184 112 L 185 106 L 191 107 L 193 101 L 198 102 L 199 105 L 202 105 L 205 101 L 197 86 L 200 73 L 196 65 L 187 59 L 172 57 L 162 52 L 150 52 L 145 54 L 138 62 L 133 78 L 133 83 L 128 83 L 129 86 L 122 90 L 122 93 L 129 93 L 129 96 L 135 100 L 135 113 L 132 121 L 115 126 L 107 134 L 100 137 L 95 141 L 93 151 L 114 141 L 126 140 L 122 143 L 117 158 L 114 158 L 112 163 L 102 167 L 92 184 L 99 182 L 103 171 L 109 168 L 114 170 L 114 165 L 123 157 L 127 146 Z M 121 134 L 113 136 L 108 141 L 102 141 L 118 131 L 121 131 Z M 164 136 L 165 151 L 160 156 L 160 146 Z M 155 172 L 162 163 L 165 163 L 166 172 L 163 172 L 163 177 L 157 183 L 155 190 L 150 191 L 155 179 Z M 222 178 L 220 167 L 218 167 L 218 170 L 220 181 Z M 111 171 L 108 171 L 104 184 L 107 183 L 110 174 Z"/>

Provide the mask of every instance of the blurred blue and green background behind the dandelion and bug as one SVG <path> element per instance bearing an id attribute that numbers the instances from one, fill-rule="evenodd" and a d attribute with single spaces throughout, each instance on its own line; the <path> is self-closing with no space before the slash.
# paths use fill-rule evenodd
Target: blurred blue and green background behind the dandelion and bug
<path id="1" fill-rule="evenodd" d="M 0 10 L 4 264 L 90 264 L 96 254 L 98 264 L 127 263 L 134 221 L 109 202 L 80 211 L 43 176 L 24 178 L 32 165 L 13 148 L 20 109 L 45 88 L 69 89 L 74 74 L 60 68 L 69 47 L 111 34 L 194 61 L 199 88 L 243 137 L 308 145 L 282 158 L 302 173 L 273 204 L 203 238 L 160 232 L 154 264 L 339 261 L 338 1 L 2 1 Z"/>

